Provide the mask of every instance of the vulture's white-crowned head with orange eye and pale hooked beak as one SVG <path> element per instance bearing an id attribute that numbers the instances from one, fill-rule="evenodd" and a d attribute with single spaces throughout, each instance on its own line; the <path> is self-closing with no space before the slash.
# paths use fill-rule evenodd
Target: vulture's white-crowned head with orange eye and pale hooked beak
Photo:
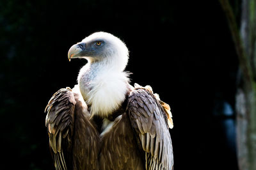
<path id="1" fill-rule="evenodd" d="M 127 65 L 129 51 L 124 42 L 116 36 L 97 32 L 72 45 L 68 59 L 86 58 L 89 63 L 102 62 L 123 71 Z"/>

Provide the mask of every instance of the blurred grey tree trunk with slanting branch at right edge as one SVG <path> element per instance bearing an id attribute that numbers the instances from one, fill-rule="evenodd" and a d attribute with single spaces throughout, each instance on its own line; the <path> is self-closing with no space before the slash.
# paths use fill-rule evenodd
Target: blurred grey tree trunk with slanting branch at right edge
<path id="1" fill-rule="evenodd" d="M 256 169 L 256 0 L 242 0 L 240 32 L 228 0 L 220 0 L 237 56 L 237 157 L 239 169 Z"/>

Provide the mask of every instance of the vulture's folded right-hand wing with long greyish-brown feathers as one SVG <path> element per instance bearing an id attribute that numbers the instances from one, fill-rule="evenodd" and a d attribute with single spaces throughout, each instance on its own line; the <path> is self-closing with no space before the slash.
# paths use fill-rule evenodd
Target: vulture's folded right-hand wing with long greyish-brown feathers
<path id="1" fill-rule="evenodd" d="M 128 112 L 132 128 L 145 151 L 145 169 L 172 169 L 172 139 L 164 108 L 152 89 L 139 86 L 128 98 Z"/>

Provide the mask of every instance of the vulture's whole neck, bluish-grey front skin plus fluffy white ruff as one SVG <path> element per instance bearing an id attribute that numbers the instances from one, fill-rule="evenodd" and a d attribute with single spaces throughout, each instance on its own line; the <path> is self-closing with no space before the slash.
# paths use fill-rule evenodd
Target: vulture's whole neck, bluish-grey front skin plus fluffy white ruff
<path id="1" fill-rule="evenodd" d="M 77 81 L 84 101 L 90 107 L 91 116 L 107 118 L 125 100 L 129 78 L 116 64 L 88 60 L 79 72 Z"/>

